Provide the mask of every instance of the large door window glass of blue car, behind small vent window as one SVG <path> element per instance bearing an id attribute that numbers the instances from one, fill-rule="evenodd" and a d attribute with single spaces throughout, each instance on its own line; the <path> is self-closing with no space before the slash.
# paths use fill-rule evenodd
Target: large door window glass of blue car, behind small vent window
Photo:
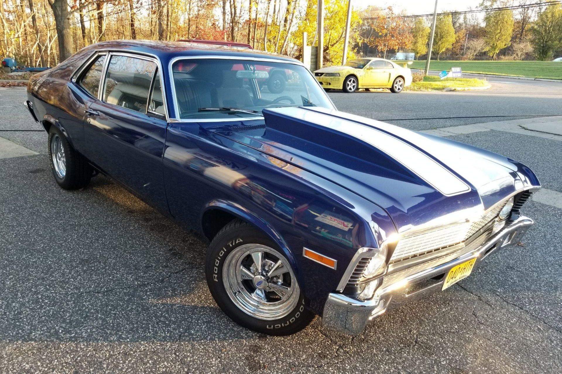
<path id="1" fill-rule="evenodd" d="M 111 56 L 103 90 L 103 101 L 146 113 L 148 92 L 156 63 L 141 58 Z"/>

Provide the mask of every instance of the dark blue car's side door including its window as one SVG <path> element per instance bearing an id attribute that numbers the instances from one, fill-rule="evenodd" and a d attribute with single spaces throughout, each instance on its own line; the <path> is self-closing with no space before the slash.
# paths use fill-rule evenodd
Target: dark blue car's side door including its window
<path id="1" fill-rule="evenodd" d="M 89 158 L 149 204 L 167 210 L 162 172 L 166 109 L 156 59 L 110 53 L 100 100 L 84 124 Z"/>

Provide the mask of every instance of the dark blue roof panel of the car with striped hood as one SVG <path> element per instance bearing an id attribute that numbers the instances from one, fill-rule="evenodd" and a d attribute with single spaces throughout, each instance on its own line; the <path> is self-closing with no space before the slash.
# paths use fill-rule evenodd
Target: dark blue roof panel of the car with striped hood
<path id="1" fill-rule="evenodd" d="M 125 50 L 128 52 L 148 53 L 161 60 L 183 56 L 217 56 L 228 58 L 270 58 L 280 61 L 299 62 L 294 58 L 277 53 L 262 52 L 255 49 L 232 48 L 220 44 L 190 43 L 188 41 L 110 40 L 89 45 L 85 49 Z"/>

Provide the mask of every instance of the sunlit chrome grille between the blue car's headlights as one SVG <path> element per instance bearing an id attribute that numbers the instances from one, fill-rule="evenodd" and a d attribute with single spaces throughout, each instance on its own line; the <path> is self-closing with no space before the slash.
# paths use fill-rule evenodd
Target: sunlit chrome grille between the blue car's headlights
<path id="1" fill-rule="evenodd" d="M 493 206 L 477 220 L 438 227 L 401 238 L 392 254 L 391 262 L 445 250 L 468 241 L 495 219 L 504 205 L 505 202 Z"/>

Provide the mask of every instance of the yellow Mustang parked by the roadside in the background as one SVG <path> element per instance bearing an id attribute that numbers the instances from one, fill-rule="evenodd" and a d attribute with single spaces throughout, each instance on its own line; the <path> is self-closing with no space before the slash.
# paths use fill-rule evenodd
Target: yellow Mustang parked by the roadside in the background
<path id="1" fill-rule="evenodd" d="M 400 63 L 382 58 L 357 58 L 343 66 L 324 67 L 314 72 L 324 89 L 355 92 L 360 88 L 388 88 L 400 93 L 412 83 L 411 62 Z"/>

